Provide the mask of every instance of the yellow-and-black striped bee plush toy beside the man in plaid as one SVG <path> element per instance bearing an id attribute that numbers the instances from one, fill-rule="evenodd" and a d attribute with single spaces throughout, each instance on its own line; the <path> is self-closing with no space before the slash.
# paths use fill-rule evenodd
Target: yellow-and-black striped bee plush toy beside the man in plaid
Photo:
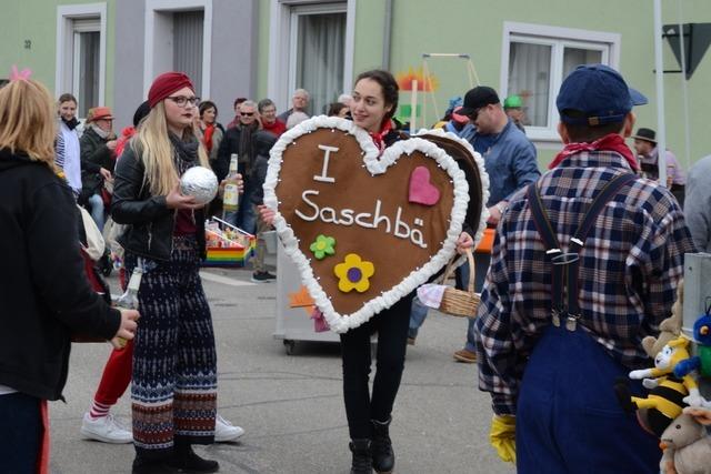
<path id="1" fill-rule="evenodd" d="M 693 377 L 673 376 L 677 363 L 689 357 L 688 345 L 689 341 L 684 337 L 671 340 L 654 357 L 653 369 L 630 372 L 630 379 L 643 379 L 642 384 L 650 389 L 645 399 L 631 396 L 630 389 L 623 380 L 614 385 L 622 407 L 628 412 L 638 411 L 640 424 L 657 436 L 660 436 L 671 421 L 681 414 L 684 396 L 689 394 L 700 396 Z"/>

